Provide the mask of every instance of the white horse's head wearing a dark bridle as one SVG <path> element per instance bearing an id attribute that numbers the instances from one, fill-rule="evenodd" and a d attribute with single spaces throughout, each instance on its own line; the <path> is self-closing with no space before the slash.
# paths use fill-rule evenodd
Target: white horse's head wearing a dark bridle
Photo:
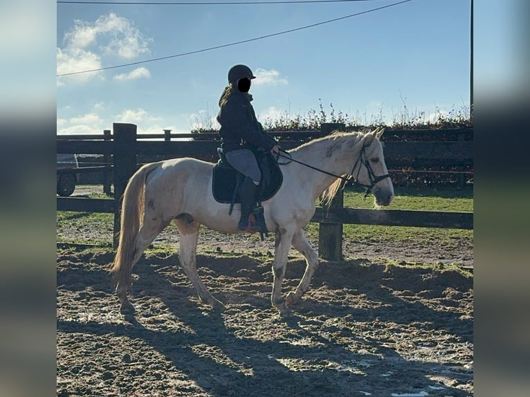
<path id="1" fill-rule="evenodd" d="M 363 136 L 359 158 L 351 170 L 356 182 L 366 187 L 366 194 L 374 196 L 376 205 L 389 205 L 394 199 L 394 186 L 385 164 L 383 145 L 379 140 L 383 131 L 383 128 L 378 127 Z"/>

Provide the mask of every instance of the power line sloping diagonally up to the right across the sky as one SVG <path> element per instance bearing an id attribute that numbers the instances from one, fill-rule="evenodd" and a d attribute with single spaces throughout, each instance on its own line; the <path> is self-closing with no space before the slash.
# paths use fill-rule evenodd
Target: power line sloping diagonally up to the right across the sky
<path id="1" fill-rule="evenodd" d="M 201 50 L 189 51 L 188 53 L 180 53 L 180 54 L 176 54 L 176 55 L 168 55 L 167 57 L 158 57 L 158 58 L 153 58 L 153 59 L 146 59 L 144 61 L 131 62 L 129 64 L 120 64 L 120 65 L 114 65 L 114 66 L 106 66 L 104 68 L 90 69 L 90 70 L 87 70 L 87 71 L 62 73 L 60 75 L 56 75 L 56 77 L 68 76 L 68 75 L 78 75 L 78 74 L 81 74 L 81 73 L 89 73 L 89 72 L 105 71 L 107 69 L 122 68 L 122 67 L 125 67 L 125 66 L 134 66 L 134 65 L 139 65 L 139 64 L 146 64 L 147 62 L 161 61 L 163 59 L 183 57 L 185 55 L 205 53 L 206 51 L 217 50 L 219 48 L 226 48 L 226 47 L 230 47 L 230 46 L 237 46 L 238 44 L 250 43 L 250 41 L 257 41 L 257 40 L 267 39 L 269 37 L 285 35 L 286 33 L 297 32 L 298 30 L 304 30 L 304 29 L 314 28 L 315 26 L 320 26 L 320 25 L 324 25 L 324 24 L 330 24 L 331 22 L 341 21 L 342 19 L 347 19 L 347 18 L 351 18 L 351 17 L 357 17 L 358 15 L 368 14 L 369 12 L 383 10 L 383 8 L 390 8 L 390 7 L 393 7 L 393 6 L 398 6 L 399 4 L 408 3 L 409 1 L 412 1 L 412 0 L 403 0 L 403 1 L 399 1 L 397 3 L 388 4 L 387 6 L 381 6 L 381 7 L 378 7 L 378 8 L 372 8 L 371 10 L 366 10 L 366 11 L 362 11 L 362 12 L 356 12 L 355 14 L 346 15 L 345 17 L 338 17 L 338 18 L 328 19 L 327 21 L 322 21 L 322 22 L 318 22 L 316 24 L 302 26 L 300 28 L 283 30 L 282 32 L 272 33 L 271 35 L 264 35 L 264 36 L 260 36 L 260 37 L 254 37 L 253 39 L 235 41 L 235 42 L 229 43 L 229 44 L 221 44 L 220 46 L 202 48 Z"/>

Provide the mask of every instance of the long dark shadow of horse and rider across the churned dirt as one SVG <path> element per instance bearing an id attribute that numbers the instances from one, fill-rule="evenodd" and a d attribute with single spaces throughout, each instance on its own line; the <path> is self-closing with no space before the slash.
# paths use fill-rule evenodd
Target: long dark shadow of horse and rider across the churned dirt
<path id="1" fill-rule="evenodd" d="M 200 261 L 200 259 L 199 259 Z M 436 362 L 413 362 L 406 360 L 393 349 L 382 346 L 376 340 L 369 340 L 360 335 L 349 335 L 356 338 L 358 343 L 369 347 L 370 353 L 354 352 L 345 349 L 341 344 L 335 343 L 329 338 L 324 338 L 317 332 L 311 331 L 311 320 L 298 313 L 311 313 L 315 317 L 328 315 L 340 317 L 345 313 L 346 308 L 339 304 L 321 304 L 313 299 L 306 299 L 298 306 L 295 306 L 291 317 L 279 317 L 271 308 L 270 300 L 264 294 L 270 291 L 257 290 L 250 292 L 236 290 L 229 293 L 214 293 L 217 297 L 230 301 L 230 293 L 237 294 L 237 301 L 252 302 L 260 309 L 266 310 L 271 316 L 277 318 L 278 327 L 287 327 L 297 338 L 309 338 L 316 342 L 313 346 L 292 344 L 284 338 L 271 338 L 260 340 L 257 338 L 241 338 L 237 336 L 233 329 L 226 326 L 226 313 L 222 311 L 209 311 L 202 304 L 197 304 L 194 290 L 191 286 L 175 284 L 160 273 L 156 266 L 150 266 L 145 259 L 141 260 L 136 268 L 136 279 L 134 295 L 136 298 L 143 296 L 155 296 L 163 301 L 169 311 L 193 330 L 193 335 L 184 331 L 158 331 L 149 329 L 143 325 L 140 315 L 129 316 L 128 324 L 111 324 L 100 322 L 75 322 L 68 320 L 57 321 L 57 331 L 62 332 L 86 332 L 95 335 L 112 334 L 125 336 L 127 338 L 139 338 L 149 344 L 154 350 L 161 353 L 167 360 L 170 360 L 176 369 L 185 373 L 190 379 L 201 387 L 204 391 L 213 396 L 261 396 L 264 385 L 271 394 L 293 396 L 350 396 L 352 387 L 369 387 L 373 382 L 390 382 L 391 376 L 381 378 L 383 367 L 387 368 L 387 362 L 391 361 L 393 367 L 399 369 L 399 373 L 392 376 L 406 376 L 410 371 L 423 373 L 421 379 L 411 380 L 416 390 L 428 389 L 429 386 L 438 387 L 439 384 L 429 380 L 427 376 L 433 367 L 438 367 Z M 174 264 L 178 266 L 178 264 Z M 199 268 L 199 271 L 200 268 Z M 182 277 L 184 277 L 182 275 Z M 181 279 L 181 277 L 178 277 Z M 109 277 L 106 278 L 109 281 Z M 110 284 L 110 283 L 109 283 Z M 207 283 L 208 284 L 208 283 Z M 66 288 L 68 286 L 64 285 Z M 87 285 L 88 287 L 89 285 Z M 98 284 L 107 293 L 112 291 L 103 288 L 103 284 Z M 75 286 L 74 288 L 78 288 Z M 263 288 L 263 287 L 260 287 Z M 168 293 L 161 294 L 161 291 Z M 369 293 L 369 291 L 360 291 Z M 269 295 L 270 296 L 270 295 Z M 248 300 L 247 300 L 248 298 Z M 183 300 L 185 309 L 183 310 Z M 192 302 L 190 302 L 190 299 Z M 381 299 L 378 295 L 377 299 Z M 385 299 L 391 304 L 396 304 L 398 299 L 387 296 Z M 133 301 L 134 302 L 134 301 Z M 112 303 L 116 305 L 118 311 L 118 299 L 113 297 Z M 410 306 L 412 307 L 412 306 Z M 228 304 L 227 310 L 233 310 Z M 352 309 L 349 308 L 350 313 Z M 374 311 L 363 309 L 353 309 L 353 315 L 359 317 L 369 317 L 382 315 Z M 383 319 L 382 319 L 383 320 Z M 388 321 L 397 320 L 392 316 L 384 319 Z M 216 347 L 225 355 L 230 362 L 237 363 L 228 365 L 210 358 L 201 356 L 194 345 L 208 345 Z M 373 364 L 375 356 L 383 357 L 385 365 Z M 306 368 L 293 369 L 289 367 L 289 362 L 301 360 L 313 360 L 320 362 L 363 362 L 369 360 L 372 367 L 369 367 L 364 374 L 352 371 L 338 371 L 336 367 L 320 368 L 318 371 Z M 248 369 L 248 372 L 241 371 L 241 368 Z M 251 373 L 251 376 L 249 375 Z M 215 376 L 212 376 L 214 374 Z M 401 380 L 402 382 L 402 380 Z M 412 383 L 411 383 L 412 385 Z M 392 385 L 389 384 L 392 389 Z M 450 393 L 453 396 L 466 396 L 466 393 L 459 389 L 444 389 L 444 395 Z M 432 394 L 431 394 L 432 395 Z"/>

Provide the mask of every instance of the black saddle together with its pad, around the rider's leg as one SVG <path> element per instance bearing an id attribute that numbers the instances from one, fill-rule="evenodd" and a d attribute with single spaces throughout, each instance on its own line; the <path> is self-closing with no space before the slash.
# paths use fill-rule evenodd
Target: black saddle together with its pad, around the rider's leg
<path id="1" fill-rule="evenodd" d="M 212 178 L 214 199 L 219 203 L 240 203 L 237 187 L 244 176 L 226 161 L 221 148 L 217 149 L 217 153 L 219 154 L 219 161 L 214 165 Z M 266 201 L 271 199 L 280 189 L 284 176 L 271 154 L 262 151 L 255 151 L 254 154 L 262 172 L 257 201 Z"/>

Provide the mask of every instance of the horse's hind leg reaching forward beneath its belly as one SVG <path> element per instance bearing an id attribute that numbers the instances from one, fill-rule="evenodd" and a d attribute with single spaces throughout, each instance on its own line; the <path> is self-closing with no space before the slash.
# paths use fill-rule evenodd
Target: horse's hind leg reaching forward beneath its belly
<path id="1" fill-rule="evenodd" d="M 203 284 L 197 273 L 197 239 L 199 237 L 199 222 L 194 221 L 191 216 L 179 216 L 174 220 L 179 228 L 181 245 L 179 261 L 184 273 L 190 279 L 201 301 L 214 308 L 222 308 L 224 305 L 215 299 L 208 288 Z"/>

